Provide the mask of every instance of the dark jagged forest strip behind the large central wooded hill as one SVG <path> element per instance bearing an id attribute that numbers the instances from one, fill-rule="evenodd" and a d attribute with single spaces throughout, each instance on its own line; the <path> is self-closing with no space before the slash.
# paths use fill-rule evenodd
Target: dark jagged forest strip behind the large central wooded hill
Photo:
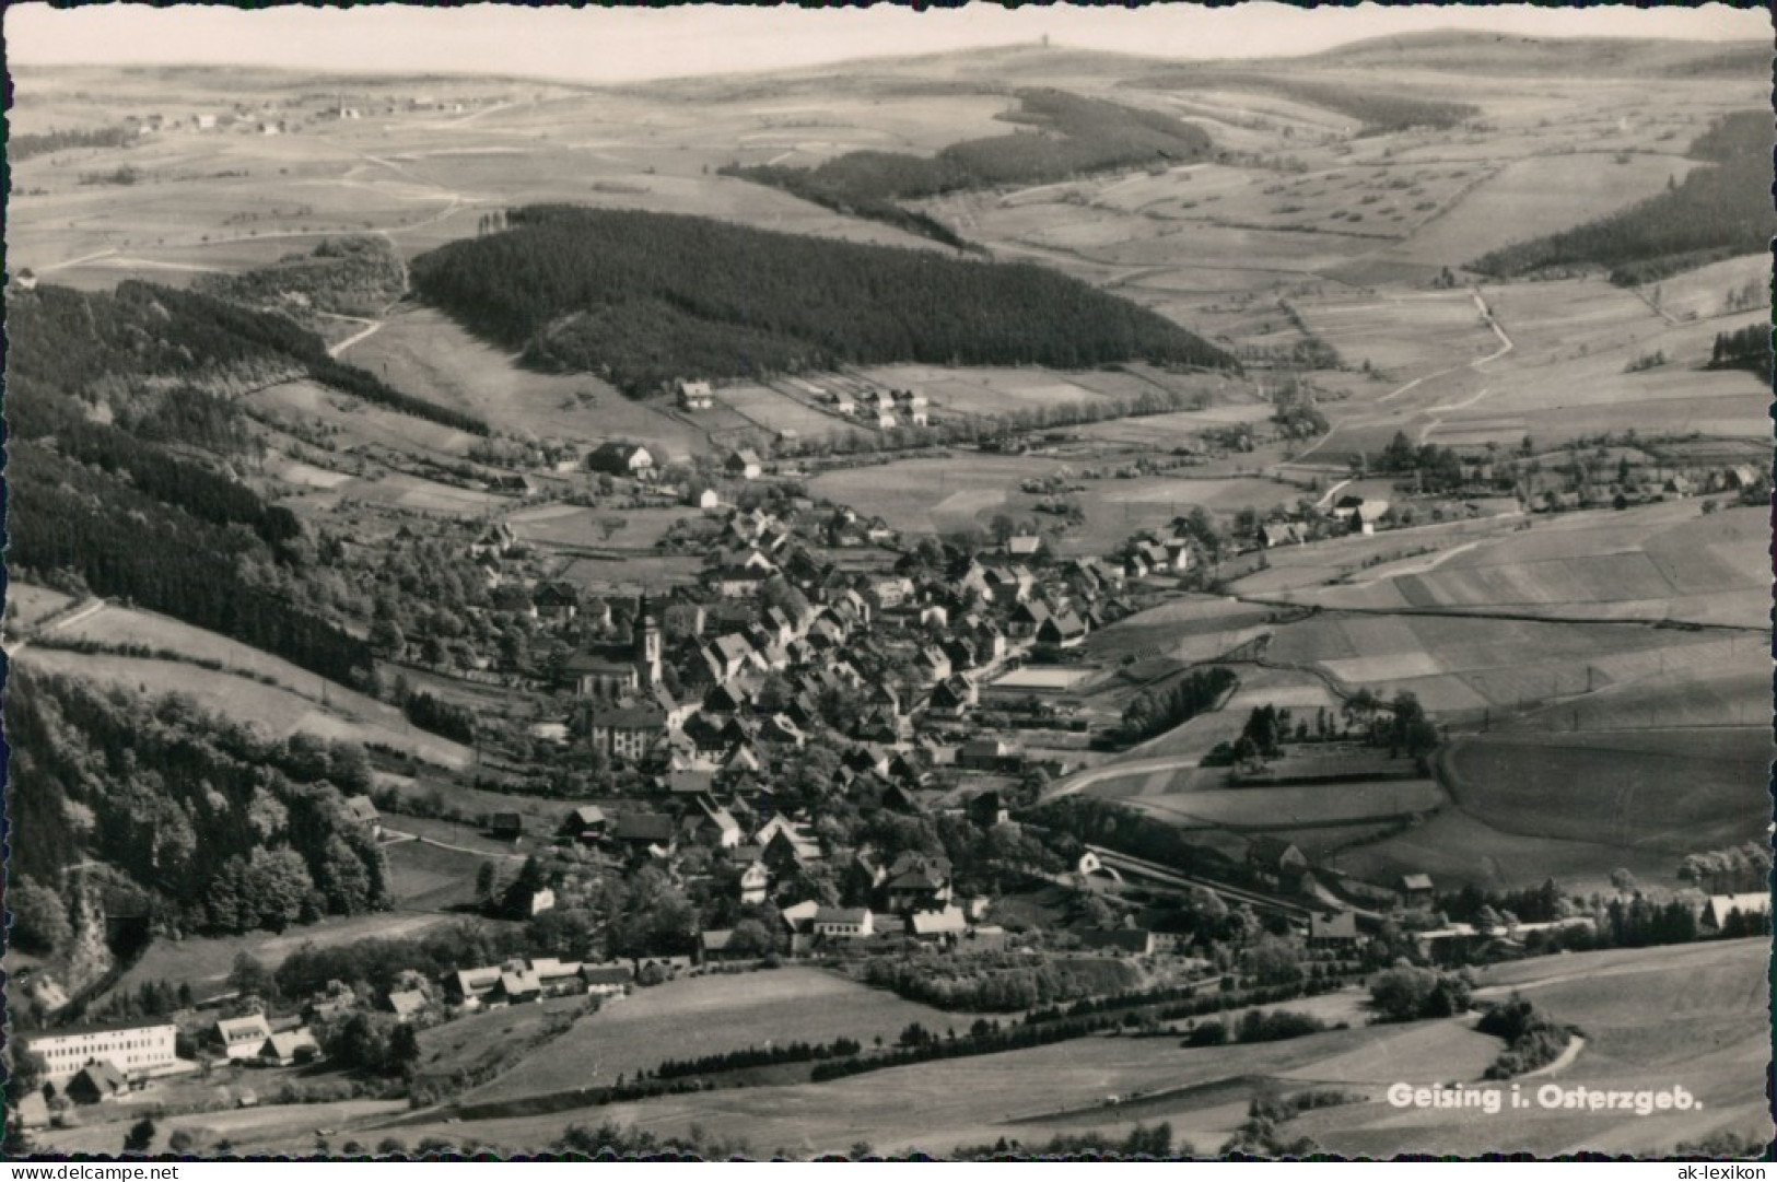
<path id="1" fill-rule="evenodd" d="M 1054 89 L 1020 91 L 1018 101 L 1018 112 L 1004 117 L 1029 130 L 951 144 L 936 156 L 853 151 L 816 169 L 723 171 L 961 247 L 963 240 L 949 228 L 896 203 L 995 185 L 1041 185 L 1080 172 L 1183 164 L 1201 160 L 1212 148 L 1203 128 L 1155 110 Z"/>

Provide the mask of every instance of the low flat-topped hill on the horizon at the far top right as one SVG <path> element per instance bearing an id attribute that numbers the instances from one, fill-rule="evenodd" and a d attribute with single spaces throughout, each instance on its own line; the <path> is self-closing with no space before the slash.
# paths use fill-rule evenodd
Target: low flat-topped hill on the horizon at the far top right
<path id="1" fill-rule="evenodd" d="M 1333 69 L 1425 69 L 1500 78 L 1761 78 L 1770 71 L 1772 46 L 1765 41 L 1519 37 L 1452 28 L 1352 41 L 1292 60 Z"/>

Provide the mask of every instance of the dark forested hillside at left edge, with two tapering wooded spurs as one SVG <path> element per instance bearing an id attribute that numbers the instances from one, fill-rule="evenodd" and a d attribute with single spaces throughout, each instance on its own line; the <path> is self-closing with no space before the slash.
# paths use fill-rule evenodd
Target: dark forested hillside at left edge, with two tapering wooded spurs
<path id="1" fill-rule="evenodd" d="M 236 478 L 256 441 L 215 391 L 307 371 L 363 393 L 377 379 L 283 316 L 146 283 L 16 293 L 7 338 L 14 574 L 126 595 L 334 681 L 370 675 L 370 647 L 306 594 L 297 519 Z"/>

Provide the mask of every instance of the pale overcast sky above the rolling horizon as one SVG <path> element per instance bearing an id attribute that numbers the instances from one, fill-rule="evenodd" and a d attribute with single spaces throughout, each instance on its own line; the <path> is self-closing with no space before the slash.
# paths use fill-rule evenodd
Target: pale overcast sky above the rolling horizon
<path id="1" fill-rule="evenodd" d="M 7 5 L 7 57 L 18 64 L 251 64 L 343 71 L 451 71 L 627 82 L 810 66 L 857 57 L 931 53 L 1036 41 L 1157 57 L 1274 57 L 1427 28 L 1530 36 L 1756 39 L 1763 7 L 1535 9 L 1413 5 L 1297 9 L 1242 4 L 1201 9 L 1079 5 L 1008 11 L 970 4 L 913 12 L 684 5 L 670 9 L 400 7 L 261 11 L 94 4 L 73 11 Z"/>

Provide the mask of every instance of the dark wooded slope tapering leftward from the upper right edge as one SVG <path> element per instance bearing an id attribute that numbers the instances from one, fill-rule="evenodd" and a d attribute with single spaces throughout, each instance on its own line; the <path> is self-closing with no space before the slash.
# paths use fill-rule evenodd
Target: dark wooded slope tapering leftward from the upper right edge
<path id="1" fill-rule="evenodd" d="M 1558 235 L 1493 251 L 1470 270 L 1510 277 L 1605 267 L 1612 283 L 1651 283 L 1693 267 L 1770 247 L 1772 114 L 1724 117 L 1690 146 L 1697 169 L 1658 197 Z"/>

